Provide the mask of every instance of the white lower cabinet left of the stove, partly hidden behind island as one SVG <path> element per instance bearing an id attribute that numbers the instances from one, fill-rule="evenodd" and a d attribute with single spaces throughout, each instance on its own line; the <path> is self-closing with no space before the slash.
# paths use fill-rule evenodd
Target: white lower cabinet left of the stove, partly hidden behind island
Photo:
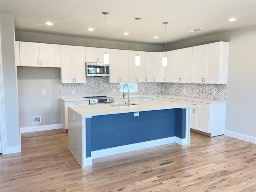
<path id="1" fill-rule="evenodd" d="M 68 132 L 68 106 L 89 105 L 89 101 L 64 101 L 60 100 L 61 127 L 64 132 Z"/>

